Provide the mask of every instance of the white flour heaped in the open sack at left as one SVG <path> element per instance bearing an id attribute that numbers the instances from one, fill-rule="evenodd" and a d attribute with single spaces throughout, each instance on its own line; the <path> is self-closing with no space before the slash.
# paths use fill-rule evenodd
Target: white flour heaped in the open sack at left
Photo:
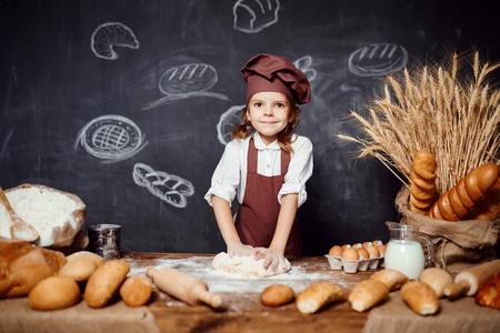
<path id="1" fill-rule="evenodd" d="M 40 233 L 38 245 L 50 246 L 53 244 L 54 226 L 63 226 L 70 223 L 77 228 L 78 221 L 72 215 L 77 203 L 68 195 L 43 188 L 18 189 L 6 193 L 13 211 L 31 224 Z M 0 236 L 10 236 L 10 222 L 3 205 L 0 205 Z"/>

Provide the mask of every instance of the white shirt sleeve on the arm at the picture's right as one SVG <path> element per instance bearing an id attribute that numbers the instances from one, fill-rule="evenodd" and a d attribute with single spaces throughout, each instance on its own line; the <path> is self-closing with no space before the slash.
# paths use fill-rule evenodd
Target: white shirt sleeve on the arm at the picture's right
<path id="1" fill-rule="evenodd" d="M 284 183 L 278 193 L 278 201 L 281 203 L 284 194 L 297 193 L 299 194 L 298 206 L 301 206 L 308 196 L 306 182 L 312 175 L 312 142 L 306 137 L 299 137 L 292 143 L 292 148 L 293 154 L 284 176 Z"/>

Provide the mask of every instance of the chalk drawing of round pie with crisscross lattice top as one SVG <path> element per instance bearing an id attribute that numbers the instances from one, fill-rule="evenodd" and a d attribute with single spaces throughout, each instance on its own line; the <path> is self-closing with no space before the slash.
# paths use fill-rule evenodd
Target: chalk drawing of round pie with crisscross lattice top
<path id="1" fill-rule="evenodd" d="M 133 121 L 117 114 L 102 115 L 87 123 L 77 135 L 76 150 L 79 143 L 88 153 L 102 159 L 102 163 L 133 157 L 148 144 Z"/>

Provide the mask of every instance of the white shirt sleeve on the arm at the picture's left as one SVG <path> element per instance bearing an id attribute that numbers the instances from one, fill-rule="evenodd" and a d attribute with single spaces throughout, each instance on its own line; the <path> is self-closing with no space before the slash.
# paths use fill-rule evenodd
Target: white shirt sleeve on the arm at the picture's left
<path id="1" fill-rule="evenodd" d="M 224 153 L 213 172 L 211 185 L 204 199 L 212 205 L 212 195 L 217 195 L 232 204 L 240 184 L 240 149 L 241 142 L 232 140 L 226 145 Z"/>

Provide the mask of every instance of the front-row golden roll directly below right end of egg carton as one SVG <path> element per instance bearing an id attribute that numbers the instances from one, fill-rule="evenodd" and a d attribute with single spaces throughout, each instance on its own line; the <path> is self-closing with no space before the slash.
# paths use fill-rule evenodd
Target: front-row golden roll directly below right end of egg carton
<path id="1" fill-rule="evenodd" d="M 348 296 L 354 311 L 363 312 L 389 296 L 389 287 L 377 280 L 368 279 L 354 285 Z"/>

